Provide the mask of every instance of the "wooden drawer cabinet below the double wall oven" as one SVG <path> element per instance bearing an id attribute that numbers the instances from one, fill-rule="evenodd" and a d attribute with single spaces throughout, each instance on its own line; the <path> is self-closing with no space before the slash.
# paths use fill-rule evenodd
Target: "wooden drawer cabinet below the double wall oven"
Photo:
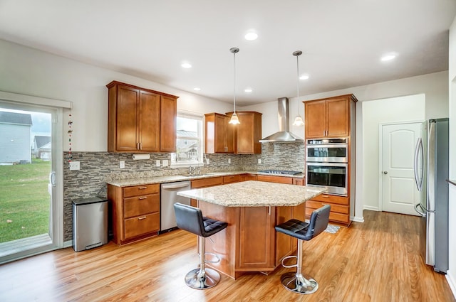
<path id="1" fill-rule="evenodd" d="M 331 205 L 329 221 L 338 225 L 350 224 L 350 199 L 348 197 L 320 194 L 311 200 L 306 201 L 306 217 L 323 205 Z"/>

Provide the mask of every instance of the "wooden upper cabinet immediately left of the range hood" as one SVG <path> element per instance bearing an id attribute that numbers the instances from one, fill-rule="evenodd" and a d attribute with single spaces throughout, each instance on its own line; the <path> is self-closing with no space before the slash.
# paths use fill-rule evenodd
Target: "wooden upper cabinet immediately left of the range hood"
<path id="1" fill-rule="evenodd" d="M 231 118 L 232 114 L 228 112 L 227 116 Z M 236 114 L 241 124 L 234 129 L 234 153 L 261 154 L 261 113 L 237 111 Z"/>

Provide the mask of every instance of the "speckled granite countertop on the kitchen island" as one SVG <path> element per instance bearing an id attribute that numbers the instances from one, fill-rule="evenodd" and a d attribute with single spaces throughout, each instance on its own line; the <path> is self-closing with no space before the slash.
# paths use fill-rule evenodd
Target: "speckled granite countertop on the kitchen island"
<path id="1" fill-rule="evenodd" d="M 241 183 L 180 191 L 177 192 L 177 195 L 225 207 L 276 207 L 300 205 L 325 190 L 304 185 L 248 180 Z"/>

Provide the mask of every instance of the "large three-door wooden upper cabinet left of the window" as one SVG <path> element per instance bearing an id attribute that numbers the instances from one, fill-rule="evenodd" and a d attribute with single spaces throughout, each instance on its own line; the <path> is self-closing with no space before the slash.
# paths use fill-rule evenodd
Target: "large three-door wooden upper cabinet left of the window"
<path id="1" fill-rule="evenodd" d="M 108 152 L 175 152 L 176 96 L 117 81 L 106 87 Z"/>

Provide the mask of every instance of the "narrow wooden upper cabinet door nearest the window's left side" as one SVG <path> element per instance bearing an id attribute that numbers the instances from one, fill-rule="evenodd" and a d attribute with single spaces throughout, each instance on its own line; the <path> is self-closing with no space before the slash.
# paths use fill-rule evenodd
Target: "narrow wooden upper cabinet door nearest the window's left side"
<path id="1" fill-rule="evenodd" d="M 176 151 L 177 99 L 161 97 L 160 151 Z"/>

